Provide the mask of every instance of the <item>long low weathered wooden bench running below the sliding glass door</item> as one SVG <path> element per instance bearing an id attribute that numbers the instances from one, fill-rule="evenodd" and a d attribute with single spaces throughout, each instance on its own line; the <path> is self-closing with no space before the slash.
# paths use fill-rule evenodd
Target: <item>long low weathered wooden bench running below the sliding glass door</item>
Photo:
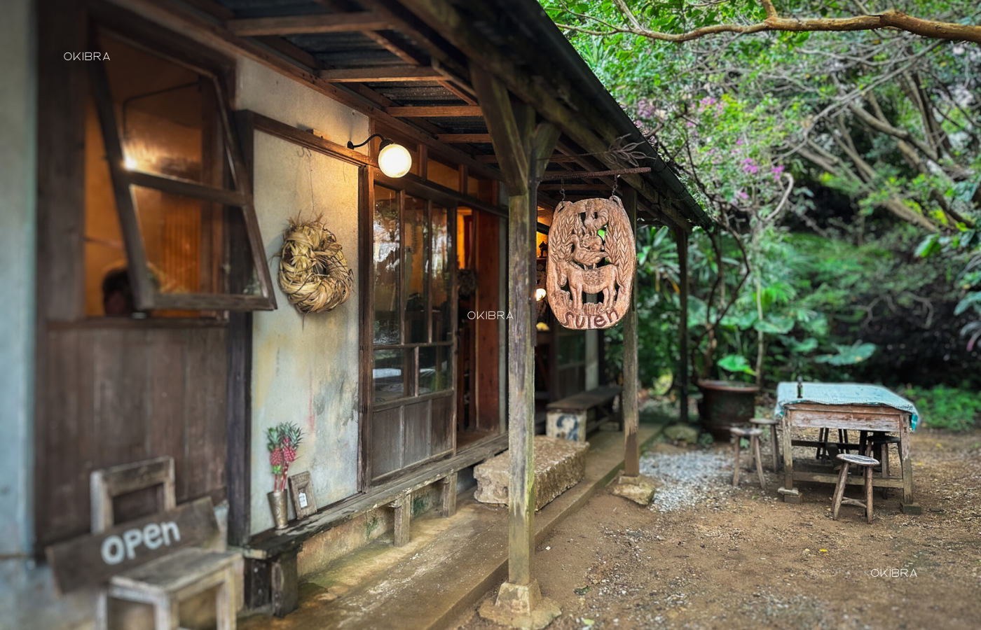
<path id="1" fill-rule="evenodd" d="M 475 463 L 489 460 L 507 449 L 507 434 L 481 442 L 448 460 L 425 466 L 418 472 L 387 482 L 362 494 L 328 506 L 286 529 L 269 529 L 255 535 L 242 548 L 246 558 L 245 605 L 257 608 L 272 603 L 279 617 L 299 605 L 296 557 L 303 544 L 360 514 L 377 508 L 394 510 L 392 543 L 400 547 L 409 542 L 412 519 L 412 493 L 434 483 L 441 483 L 444 517 L 456 512 L 457 472 Z"/>

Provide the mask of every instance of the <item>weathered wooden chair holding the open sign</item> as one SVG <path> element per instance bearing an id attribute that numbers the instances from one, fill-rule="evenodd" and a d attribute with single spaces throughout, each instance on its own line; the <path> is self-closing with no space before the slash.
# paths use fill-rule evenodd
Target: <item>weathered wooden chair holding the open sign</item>
<path id="1" fill-rule="evenodd" d="M 174 458 L 94 470 L 89 478 L 92 533 L 102 533 L 115 524 L 114 497 L 154 486 L 158 487 L 161 511 L 177 507 Z M 217 528 L 215 534 L 218 534 Z M 178 630 L 181 602 L 216 587 L 218 630 L 234 630 L 237 602 L 233 591 L 236 584 L 234 569 L 240 558 L 237 553 L 186 547 L 118 573 L 99 589 L 96 630 L 109 627 L 109 598 L 153 606 L 156 630 Z"/>

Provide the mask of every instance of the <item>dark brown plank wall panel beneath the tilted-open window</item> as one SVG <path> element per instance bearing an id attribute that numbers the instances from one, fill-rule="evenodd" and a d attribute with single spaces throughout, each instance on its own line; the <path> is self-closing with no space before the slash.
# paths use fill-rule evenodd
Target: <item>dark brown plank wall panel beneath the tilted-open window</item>
<path id="1" fill-rule="evenodd" d="M 226 331 L 114 327 L 47 333 L 47 397 L 38 417 L 40 547 L 89 529 L 95 468 L 169 455 L 178 502 L 225 498 Z M 151 508 L 154 493 L 122 500 Z"/>

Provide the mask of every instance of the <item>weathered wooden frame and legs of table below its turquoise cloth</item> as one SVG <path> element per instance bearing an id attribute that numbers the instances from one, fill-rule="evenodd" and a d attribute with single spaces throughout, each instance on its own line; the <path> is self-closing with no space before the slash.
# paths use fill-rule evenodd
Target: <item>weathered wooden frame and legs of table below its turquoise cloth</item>
<path id="1" fill-rule="evenodd" d="M 846 429 L 852 431 L 884 431 L 900 436 L 902 477 L 873 477 L 874 487 L 900 488 L 903 490 L 903 511 L 919 513 L 913 504 L 912 462 L 909 460 L 909 434 L 912 429 L 911 413 L 887 405 L 824 404 L 814 402 L 788 403 L 783 407 L 781 420 L 781 448 L 784 452 L 784 487 L 781 494 L 785 501 L 798 498 L 794 490 L 795 481 L 810 481 L 835 484 L 838 475 L 833 470 L 827 472 L 794 469 L 794 446 L 815 446 L 808 440 L 795 440 L 792 431 L 795 427 Z M 840 445 L 846 448 L 853 445 Z M 802 467 L 802 466 L 801 466 Z M 850 479 L 849 483 L 861 484 L 861 479 Z"/>

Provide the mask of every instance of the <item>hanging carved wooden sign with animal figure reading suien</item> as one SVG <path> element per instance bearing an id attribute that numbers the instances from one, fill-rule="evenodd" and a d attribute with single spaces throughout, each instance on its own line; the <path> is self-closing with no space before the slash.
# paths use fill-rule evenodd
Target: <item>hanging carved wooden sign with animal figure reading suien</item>
<path id="1" fill-rule="evenodd" d="M 548 306 L 566 328 L 609 328 L 630 307 L 637 253 L 620 199 L 560 206 L 548 230 Z M 593 303 L 587 295 L 595 295 Z"/>

